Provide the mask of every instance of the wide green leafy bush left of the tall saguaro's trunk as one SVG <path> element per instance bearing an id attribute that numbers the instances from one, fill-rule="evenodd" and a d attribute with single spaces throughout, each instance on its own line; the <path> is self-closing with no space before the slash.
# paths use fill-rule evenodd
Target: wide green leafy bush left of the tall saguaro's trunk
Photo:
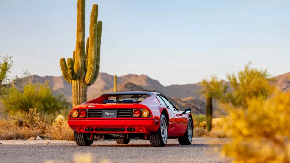
<path id="1" fill-rule="evenodd" d="M 4 105 L 4 111 L 9 114 L 18 111 L 25 114 L 33 108 L 37 108 L 37 112 L 41 114 L 52 114 L 69 107 L 62 94 L 53 96 L 47 81 L 45 84 L 29 83 L 21 90 L 11 87 L 0 102 Z"/>

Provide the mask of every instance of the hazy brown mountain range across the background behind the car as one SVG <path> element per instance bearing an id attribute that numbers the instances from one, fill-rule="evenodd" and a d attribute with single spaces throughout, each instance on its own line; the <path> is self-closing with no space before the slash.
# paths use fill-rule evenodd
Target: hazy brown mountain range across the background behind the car
<path id="1" fill-rule="evenodd" d="M 28 78 L 29 82 L 44 84 L 47 80 L 53 94 L 63 93 L 69 101 L 72 98 L 72 85 L 66 82 L 63 76 L 38 76 L 32 75 Z M 275 77 L 275 82 L 272 84 L 276 88 L 283 91 L 290 91 L 290 73 L 285 73 Z M 105 92 L 113 92 L 114 76 L 100 72 L 99 77 L 94 84 L 88 87 L 88 100 L 99 96 Z M 195 114 L 205 114 L 205 99 L 196 92 L 200 90 L 200 83 L 184 84 L 184 85 L 169 85 L 163 86 L 159 81 L 151 79 L 147 75 L 128 74 L 117 77 L 118 91 L 155 91 L 164 94 L 170 101 L 178 107 L 178 109 L 191 108 Z M 214 105 L 214 111 L 218 117 L 224 112 Z"/>

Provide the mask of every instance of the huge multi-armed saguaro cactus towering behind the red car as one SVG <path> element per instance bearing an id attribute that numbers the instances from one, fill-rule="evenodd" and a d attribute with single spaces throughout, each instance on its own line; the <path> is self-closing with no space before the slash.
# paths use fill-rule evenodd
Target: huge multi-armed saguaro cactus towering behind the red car
<path id="1" fill-rule="evenodd" d="M 93 4 L 85 49 L 85 0 L 78 0 L 76 49 L 67 62 L 60 59 L 64 79 L 72 84 L 73 107 L 87 101 L 88 86 L 94 84 L 99 75 L 102 22 L 97 20 L 98 5 Z"/>

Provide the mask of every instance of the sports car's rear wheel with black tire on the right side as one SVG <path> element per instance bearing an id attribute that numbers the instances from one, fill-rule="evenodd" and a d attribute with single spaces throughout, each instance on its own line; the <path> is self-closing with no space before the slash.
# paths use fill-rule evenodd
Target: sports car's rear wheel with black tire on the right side
<path id="1" fill-rule="evenodd" d="M 165 133 L 166 135 L 164 135 Z M 164 137 L 162 135 L 164 135 Z M 168 138 L 168 121 L 166 120 L 165 116 L 161 114 L 160 126 L 157 132 L 150 134 L 149 140 L 153 147 L 164 147 L 167 143 L 167 138 Z"/>

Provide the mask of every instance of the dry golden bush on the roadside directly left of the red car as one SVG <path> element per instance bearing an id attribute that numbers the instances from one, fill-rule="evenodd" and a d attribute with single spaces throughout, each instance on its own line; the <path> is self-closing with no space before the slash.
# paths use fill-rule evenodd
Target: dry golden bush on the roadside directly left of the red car
<path id="1" fill-rule="evenodd" d="M 46 128 L 46 135 L 54 140 L 74 140 L 73 130 L 68 126 L 68 120 L 62 115 Z"/>

